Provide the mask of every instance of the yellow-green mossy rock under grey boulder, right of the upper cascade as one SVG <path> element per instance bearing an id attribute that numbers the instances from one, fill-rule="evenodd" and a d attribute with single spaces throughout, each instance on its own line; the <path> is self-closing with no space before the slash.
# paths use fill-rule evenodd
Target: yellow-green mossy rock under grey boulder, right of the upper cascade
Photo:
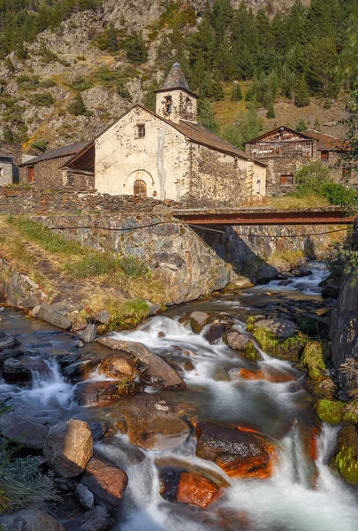
<path id="1" fill-rule="evenodd" d="M 267 354 L 285 361 L 298 361 L 302 350 L 308 342 L 307 337 L 302 335 L 301 332 L 287 337 L 284 341 L 279 341 L 273 332 L 263 327 L 255 328 L 253 335 Z"/>

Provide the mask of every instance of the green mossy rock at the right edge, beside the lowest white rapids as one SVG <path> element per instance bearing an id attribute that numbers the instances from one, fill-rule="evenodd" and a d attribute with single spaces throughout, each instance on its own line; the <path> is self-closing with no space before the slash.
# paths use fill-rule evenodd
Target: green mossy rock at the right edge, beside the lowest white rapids
<path id="1" fill-rule="evenodd" d="M 358 435 L 354 426 L 340 430 L 338 448 L 334 465 L 347 483 L 358 487 Z"/>

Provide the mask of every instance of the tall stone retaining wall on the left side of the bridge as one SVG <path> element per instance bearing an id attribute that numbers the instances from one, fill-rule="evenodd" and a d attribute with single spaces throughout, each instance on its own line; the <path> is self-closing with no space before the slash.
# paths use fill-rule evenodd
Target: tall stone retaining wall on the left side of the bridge
<path id="1" fill-rule="evenodd" d="M 218 257 L 191 228 L 163 216 L 112 214 L 39 216 L 35 219 L 50 228 L 72 227 L 55 229 L 55 232 L 96 250 L 114 250 L 144 258 L 167 287 L 169 303 L 179 304 L 209 295 L 224 289 L 236 278 L 232 266 Z M 151 227 L 131 230 L 147 225 Z"/>

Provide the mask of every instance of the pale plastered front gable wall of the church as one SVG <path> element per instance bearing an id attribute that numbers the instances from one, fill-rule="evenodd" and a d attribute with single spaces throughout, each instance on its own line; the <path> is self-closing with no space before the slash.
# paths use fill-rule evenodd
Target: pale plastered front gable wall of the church
<path id="1" fill-rule="evenodd" d="M 135 138 L 137 124 L 145 125 L 144 138 Z M 95 189 L 133 195 L 133 183 L 141 179 L 148 196 L 177 201 L 188 189 L 189 151 L 184 135 L 134 107 L 95 141 Z"/>

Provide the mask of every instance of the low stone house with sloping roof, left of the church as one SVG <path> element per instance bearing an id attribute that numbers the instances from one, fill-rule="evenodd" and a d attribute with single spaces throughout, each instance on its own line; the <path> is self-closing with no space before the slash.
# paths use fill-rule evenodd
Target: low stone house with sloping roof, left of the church
<path id="1" fill-rule="evenodd" d="M 61 167 L 87 144 L 88 142 L 81 142 L 46 151 L 19 164 L 20 183 L 33 184 L 36 189 L 62 189 L 64 181 Z"/>

